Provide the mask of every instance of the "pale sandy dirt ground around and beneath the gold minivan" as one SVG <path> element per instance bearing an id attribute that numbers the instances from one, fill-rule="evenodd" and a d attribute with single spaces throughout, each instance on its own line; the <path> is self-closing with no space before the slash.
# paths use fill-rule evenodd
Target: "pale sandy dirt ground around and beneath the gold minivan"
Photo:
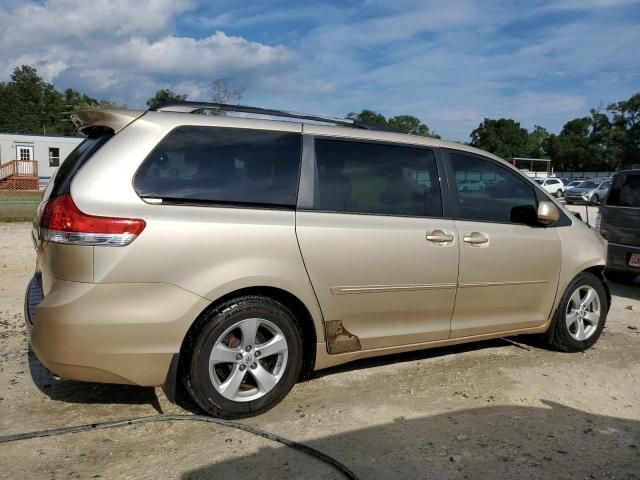
<path id="1" fill-rule="evenodd" d="M 0 435 L 189 413 L 160 389 L 55 380 L 29 353 L 29 228 L 0 224 Z M 299 383 L 246 423 L 362 479 L 639 479 L 640 285 L 612 290 L 604 334 L 583 354 L 517 339 L 361 361 Z M 248 433 L 160 423 L 0 444 L 0 478 L 341 477 Z"/>

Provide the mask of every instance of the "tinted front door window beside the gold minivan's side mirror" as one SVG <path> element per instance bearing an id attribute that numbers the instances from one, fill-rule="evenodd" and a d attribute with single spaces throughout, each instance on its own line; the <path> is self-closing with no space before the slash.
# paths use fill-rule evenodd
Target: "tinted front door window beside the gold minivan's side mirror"
<path id="1" fill-rule="evenodd" d="M 464 153 L 450 152 L 449 159 L 455 175 L 458 218 L 519 223 L 517 218 L 523 210 L 537 212 L 533 186 L 515 173 L 487 159 Z M 520 208 L 513 210 L 514 207 Z"/>

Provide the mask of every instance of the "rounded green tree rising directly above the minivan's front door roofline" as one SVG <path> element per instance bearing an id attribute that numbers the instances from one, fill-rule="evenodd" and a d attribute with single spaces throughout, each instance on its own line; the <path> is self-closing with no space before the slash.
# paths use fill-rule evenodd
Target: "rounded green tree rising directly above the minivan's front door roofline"
<path id="1" fill-rule="evenodd" d="M 526 157 L 530 153 L 529 132 L 510 118 L 485 118 L 471 132 L 471 145 L 503 158 Z"/>

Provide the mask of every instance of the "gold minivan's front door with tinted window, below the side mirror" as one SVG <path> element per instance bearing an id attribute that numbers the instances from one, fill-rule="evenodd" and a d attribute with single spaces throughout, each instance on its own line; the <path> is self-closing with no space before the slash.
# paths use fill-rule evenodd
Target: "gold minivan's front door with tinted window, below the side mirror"
<path id="1" fill-rule="evenodd" d="M 509 167 L 466 152 L 443 152 L 460 235 L 453 338 L 543 325 L 560 274 L 560 238 L 553 226 L 529 226 L 535 187 Z M 481 188 L 464 189 L 468 178 Z M 515 210 L 514 210 L 515 207 Z"/>

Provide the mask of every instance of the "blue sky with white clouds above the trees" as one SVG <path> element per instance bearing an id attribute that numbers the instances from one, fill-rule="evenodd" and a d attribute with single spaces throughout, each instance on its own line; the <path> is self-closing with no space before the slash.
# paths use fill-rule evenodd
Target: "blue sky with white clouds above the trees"
<path id="1" fill-rule="evenodd" d="M 0 0 L 0 80 L 33 65 L 129 107 L 160 88 L 344 116 L 419 117 L 468 141 L 483 118 L 558 132 L 640 92 L 640 0 Z"/>

